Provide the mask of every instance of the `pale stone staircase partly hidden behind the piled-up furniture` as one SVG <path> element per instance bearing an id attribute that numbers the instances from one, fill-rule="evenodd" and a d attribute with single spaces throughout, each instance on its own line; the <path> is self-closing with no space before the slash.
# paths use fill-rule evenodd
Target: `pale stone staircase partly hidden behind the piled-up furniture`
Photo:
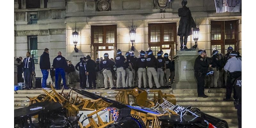
<path id="1" fill-rule="evenodd" d="M 69 91 L 70 90 L 64 90 L 64 92 Z M 117 91 L 114 90 L 94 89 L 86 91 L 101 95 L 103 97 L 107 97 L 111 100 L 116 100 L 115 96 L 117 94 Z M 29 105 L 29 99 L 26 98 L 26 96 L 35 97 L 39 94 L 44 94 L 43 90 L 41 89 L 18 90 L 17 92 L 18 93 L 14 92 L 14 109 Z M 50 92 L 50 90 L 48 92 Z M 61 90 L 57 90 L 57 92 L 61 92 Z M 202 112 L 206 114 L 227 121 L 229 128 L 238 128 L 237 113 L 236 109 L 234 108 L 233 101 L 222 101 L 222 99 L 226 95 L 226 89 L 205 89 L 204 92 L 206 95 L 209 96 L 208 98 L 197 97 L 196 89 L 163 89 L 162 92 L 173 94 L 177 100 L 176 104 L 180 106 L 192 106 L 192 108 L 199 108 Z M 77 94 L 76 92 L 72 93 L 73 96 Z M 84 97 L 80 94 L 78 94 L 78 96 Z M 149 93 L 148 99 L 151 100 L 153 96 L 153 93 Z"/>

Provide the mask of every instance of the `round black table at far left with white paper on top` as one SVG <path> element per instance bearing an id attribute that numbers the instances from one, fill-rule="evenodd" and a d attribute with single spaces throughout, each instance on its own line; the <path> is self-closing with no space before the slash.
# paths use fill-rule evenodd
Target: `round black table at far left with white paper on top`
<path id="1" fill-rule="evenodd" d="M 33 108 L 38 108 L 36 110 L 31 110 Z M 24 108 L 14 109 L 14 120 L 19 120 L 21 127 L 24 125 L 25 128 L 28 128 L 28 119 L 30 127 L 32 128 L 31 116 L 37 115 L 40 111 L 44 110 L 44 107 L 41 106 L 29 106 Z M 24 124 L 22 123 L 24 120 Z"/>

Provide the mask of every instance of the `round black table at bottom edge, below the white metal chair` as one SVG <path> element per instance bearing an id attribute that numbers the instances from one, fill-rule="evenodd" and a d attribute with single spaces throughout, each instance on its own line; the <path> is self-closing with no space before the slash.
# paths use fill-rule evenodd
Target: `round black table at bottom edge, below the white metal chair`
<path id="1" fill-rule="evenodd" d="M 204 119 L 201 117 L 184 115 L 180 118 L 179 115 L 166 115 L 159 116 L 158 119 L 162 121 L 161 128 L 170 128 L 170 127 L 182 127 L 189 128 L 191 125 L 201 124 Z"/>

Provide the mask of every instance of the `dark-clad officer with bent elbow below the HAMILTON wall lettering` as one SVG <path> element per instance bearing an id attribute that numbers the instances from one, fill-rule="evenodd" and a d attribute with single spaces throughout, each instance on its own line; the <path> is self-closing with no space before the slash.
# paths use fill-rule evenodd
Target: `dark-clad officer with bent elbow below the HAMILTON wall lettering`
<path id="1" fill-rule="evenodd" d="M 80 62 L 78 62 L 75 66 L 76 70 L 79 71 L 80 88 L 86 88 L 87 77 L 86 77 L 86 67 L 85 66 L 86 66 L 85 61 L 81 57 Z"/>

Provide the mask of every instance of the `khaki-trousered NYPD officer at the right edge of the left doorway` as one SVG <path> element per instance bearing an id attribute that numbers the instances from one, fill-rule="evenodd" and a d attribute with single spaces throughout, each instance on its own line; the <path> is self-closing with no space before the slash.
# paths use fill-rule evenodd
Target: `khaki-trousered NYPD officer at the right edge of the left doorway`
<path id="1" fill-rule="evenodd" d="M 117 80 L 116 80 L 116 87 L 117 89 L 121 89 L 125 87 L 125 58 L 122 55 L 122 51 L 120 49 L 117 50 L 117 56 L 115 58 L 116 62 L 116 74 L 117 74 Z M 122 79 L 122 85 L 120 85 L 120 79 Z"/>

